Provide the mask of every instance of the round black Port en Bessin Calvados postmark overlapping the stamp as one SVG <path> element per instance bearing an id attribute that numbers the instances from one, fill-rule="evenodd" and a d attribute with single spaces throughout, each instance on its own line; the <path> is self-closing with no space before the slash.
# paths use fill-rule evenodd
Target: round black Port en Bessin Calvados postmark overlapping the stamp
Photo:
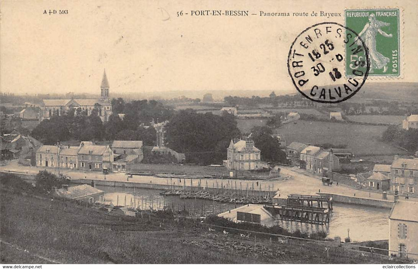
<path id="1" fill-rule="evenodd" d="M 345 50 L 350 50 L 346 59 Z M 345 76 L 346 62 L 352 74 Z M 289 50 L 288 71 L 296 89 L 321 103 L 338 103 L 357 93 L 367 79 L 367 47 L 350 28 L 339 23 L 318 23 L 300 33 Z"/>

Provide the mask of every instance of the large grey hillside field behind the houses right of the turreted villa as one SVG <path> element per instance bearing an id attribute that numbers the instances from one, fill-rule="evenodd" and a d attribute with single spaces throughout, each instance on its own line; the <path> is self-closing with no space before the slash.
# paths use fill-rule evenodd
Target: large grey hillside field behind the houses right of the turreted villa
<path id="1" fill-rule="evenodd" d="M 380 137 L 386 128 L 386 126 L 298 120 L 295 124 L 284 124 L 276 129 L 276 132 L 282 134 L 286 145 L 294 141 L 311 145 L 345 144 L 357 156 L 405 153 L 396 147 L 380 142 Z"/>

